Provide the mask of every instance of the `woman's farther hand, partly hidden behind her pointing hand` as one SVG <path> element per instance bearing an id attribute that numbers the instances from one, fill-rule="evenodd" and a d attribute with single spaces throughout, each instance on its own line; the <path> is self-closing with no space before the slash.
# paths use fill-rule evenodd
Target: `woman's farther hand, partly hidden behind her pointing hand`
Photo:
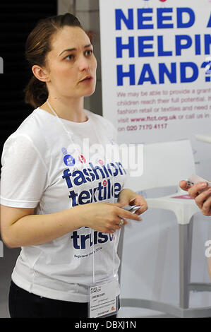
<path id="1" fill-rule="evenodd" d="M 148 208 L 145 198 L 143 198 L 143 196 L 135 193 L 131 189 L 123 189 L 122 191 L 120 191 L 118 201 L 119 201 L 119 203 L 122 203 L 123 206 L 126 206 L 126 205 L 141 206 L 141 208 L 139 208 L 137 211 L 135 211 L 135 213 L 137 215 L 144 213 L 145 211 L 147 211 L 147 208 Z"/>

